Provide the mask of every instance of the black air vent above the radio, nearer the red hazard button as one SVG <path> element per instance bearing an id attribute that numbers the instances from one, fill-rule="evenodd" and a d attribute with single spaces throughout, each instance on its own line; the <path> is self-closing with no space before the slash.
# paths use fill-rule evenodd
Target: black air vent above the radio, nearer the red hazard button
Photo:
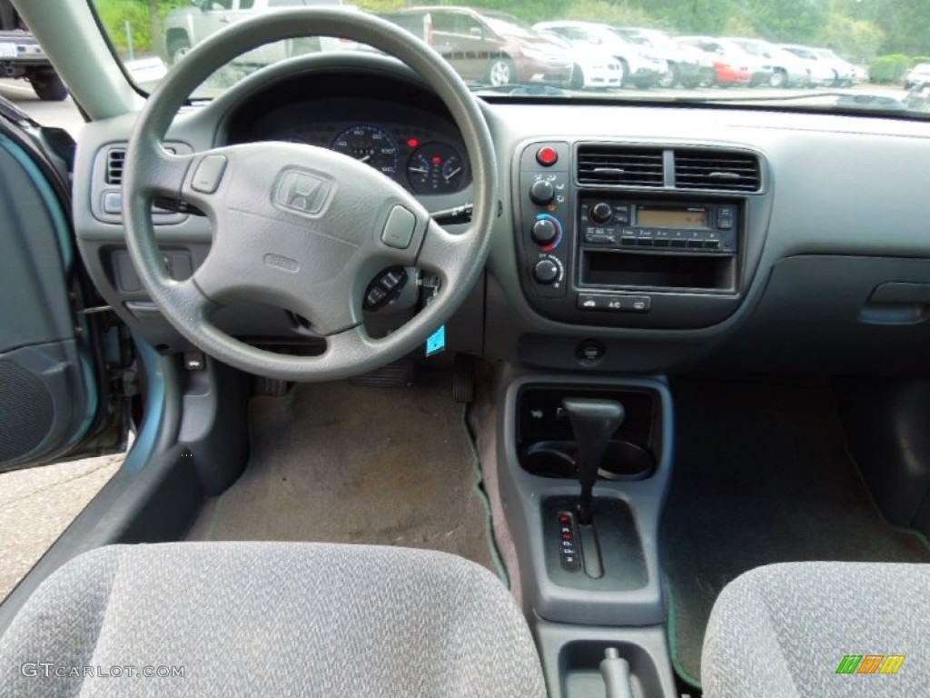
<path id="1" fill-rule="evenodd" d="M 582 145 L 578 148 L 578 182 L 661 187 L 664 183 L 662 151 L 618 145 Z"/>

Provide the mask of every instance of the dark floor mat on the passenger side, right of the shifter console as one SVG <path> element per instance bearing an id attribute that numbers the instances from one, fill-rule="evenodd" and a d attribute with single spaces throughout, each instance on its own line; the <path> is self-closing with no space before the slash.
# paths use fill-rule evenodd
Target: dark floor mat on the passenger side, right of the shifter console
<path id="1" fill-rule="evenodd" d="M 674 383 L 675 470 L 659 554 L 679 675 L 700 677 L 713 602 L 754 567 L 792 560 L 930 562 L 887 524 L 845 448 L 827 387 Z"/>

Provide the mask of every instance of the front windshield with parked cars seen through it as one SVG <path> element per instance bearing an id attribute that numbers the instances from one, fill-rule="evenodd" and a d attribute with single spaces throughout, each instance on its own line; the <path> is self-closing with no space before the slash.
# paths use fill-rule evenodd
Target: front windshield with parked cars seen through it
<path id="1" fill-rule="evenodd" d="M 922 77 L 930 60 L 924 55 L 930 53 L 930 22 L 923 3 L 911 0 L 90 2 L 114 53 L 144 92 L 234 22 L 283 7 L 341 6 L 379 15 L 431 44 L 487 97 L 930 114 L 930 86 Z M 604 38 L 611 36 L 617 40 Z M 337 37 L 281 41 L 233 61 L 193 97 L 215 98 L 279 60 L 371 50 Z"/>

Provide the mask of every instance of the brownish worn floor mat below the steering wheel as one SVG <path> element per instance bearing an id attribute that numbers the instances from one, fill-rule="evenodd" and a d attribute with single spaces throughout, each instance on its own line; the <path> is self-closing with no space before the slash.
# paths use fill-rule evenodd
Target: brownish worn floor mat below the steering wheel
<path id="1" fill-rule="evenodd" d="M 449 376 L 409 388 L 299 385 L 253 399 L 250 425 L 246 472 L 206 503 L 188 540 L 431 548 L 497 571 Z"/>

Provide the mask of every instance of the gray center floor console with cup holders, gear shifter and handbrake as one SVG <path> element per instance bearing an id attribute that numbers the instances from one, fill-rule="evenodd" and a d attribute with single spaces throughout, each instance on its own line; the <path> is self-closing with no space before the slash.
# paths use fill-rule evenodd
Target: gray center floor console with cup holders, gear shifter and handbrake
<path id="1" fill-rule="evenodd" d="M 496 400 L 499 490 L 550 695 L 677 695 L 658 562 L 668 387 L 508 370 Z M 630 692 L 610 692 L 612 682 Z"/>

